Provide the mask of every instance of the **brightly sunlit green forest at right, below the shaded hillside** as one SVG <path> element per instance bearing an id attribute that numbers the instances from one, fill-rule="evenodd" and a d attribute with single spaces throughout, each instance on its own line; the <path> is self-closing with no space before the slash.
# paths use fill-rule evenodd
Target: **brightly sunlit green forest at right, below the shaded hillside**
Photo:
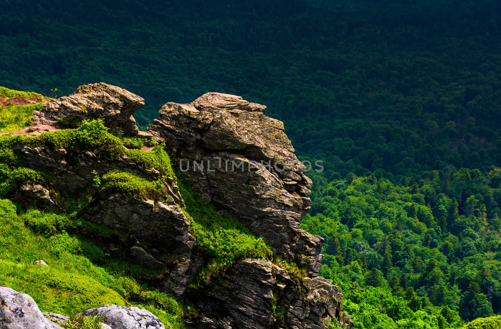
<path id="1" fill-rule="evenodd" d="M 412 327 L 425 311 L 434 317 L 431 327 L 457 327 L 457 314 L 471 320 L 501 311 L 498 173 L 495 167 L 486 174 L 450 169 L 398 182 L 349 175 L 329 183 L 311 175 L 313 206 L 301 226 L 326 239 L 320 274 L 345 286 L 350 315 L 365 328 L 378 322 Z M 360 302 L 349 282 L 365 293 L 385 292 L 372 306 L 404 298 L 410 311 L 395 316 L 381 306 L 391 321 L 381 315 L 376 321 L 369 305 L 355 306 Z"/>

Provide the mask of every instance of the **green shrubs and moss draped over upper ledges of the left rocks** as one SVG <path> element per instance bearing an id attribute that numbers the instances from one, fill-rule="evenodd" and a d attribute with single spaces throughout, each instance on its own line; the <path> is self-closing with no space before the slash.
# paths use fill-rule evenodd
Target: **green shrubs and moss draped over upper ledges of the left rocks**
<path id="1" fill-rule="evenodd" d="M 101 159 L 121 159 L 126 157 L 128 161 L 137 163 L 146 170 L 157 170 L 160 179 L 149 182 L 133 174 L 113 171 L 104 174 L 103 182 L 94 171 L 93 186 L 102 192 L 122 192 L 139 199 L 165 200 L 164 180 L 176 176 L 172 171 L 170 159 L 163 150 L 163 145 L 157 145 L 151 151 L 140 149 L 126 149 L 123 142 L 140 142 L 145 139 L 125 138 L 115 136 L 108 132 L 102 119 L 84 120 L 77 129 L 63 129 L 45 132 L 38 136 L 2 136 L 0 137 L 0 197 L 6 196 L 15 190 L 22 182 L 33 182 L 50 185 L 48 175 L 23 168 L 21 162 L 12 148 L 15 144 L 24 144 L 30 147 L 46 146 L 53 149 L 65 148 L 70 157 L 78 160 L 78 155 L 84 151 L 94 152 Z M 140 146 L 139 144 L 137 146 Z"/>

